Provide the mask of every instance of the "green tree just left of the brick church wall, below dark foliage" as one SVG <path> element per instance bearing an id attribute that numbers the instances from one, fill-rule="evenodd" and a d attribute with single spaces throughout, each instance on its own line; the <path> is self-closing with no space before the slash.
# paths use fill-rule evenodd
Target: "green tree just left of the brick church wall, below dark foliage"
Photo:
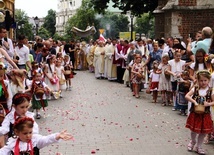
<path id="1" fill-rule="evenodd" d="M 136 23 L 134 24 L 134 30 L 136 33 L 142 34 L 144 33 L 146 37 L 153 38 L 154 37 L 154 17 L 145 13 L 143 16 L 138 17 L 136 19 Z"/>

